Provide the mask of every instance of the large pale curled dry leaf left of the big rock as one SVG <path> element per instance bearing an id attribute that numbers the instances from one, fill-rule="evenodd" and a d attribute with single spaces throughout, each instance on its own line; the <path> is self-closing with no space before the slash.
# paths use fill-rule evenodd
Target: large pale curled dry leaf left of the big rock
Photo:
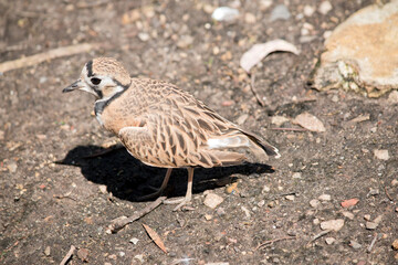
<path id="1" fill-rule="evenodd" d="M 284 40 L 273 40 L 261 44 L 254 44 L 242 55 L 240 66 L 249 73 L 254 65 L 273 52 L 291 52 L 296 55 L 300 53 L 297 47 L 293 44 Z"/>

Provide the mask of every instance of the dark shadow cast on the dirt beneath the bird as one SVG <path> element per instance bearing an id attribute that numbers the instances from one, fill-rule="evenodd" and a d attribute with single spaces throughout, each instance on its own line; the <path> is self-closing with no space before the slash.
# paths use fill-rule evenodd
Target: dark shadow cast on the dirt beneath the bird
<path id="1" fill-rule="evenodd" d="M 117 148 L 101 156 L 105 149 L 98 146 L 77 146 L 70 150 L 59 165 L 80 167 L 82 174 L 90 181 L 105 184 L 107 191 L 122 200 L 142 201 L 140 198 L 154 192 L 150 187 L 159 188 L 166 169 L 154 168 L 132 157 L 125 148 Z M 223 168 L 197 168 L 193 176 L 193 193 L 231 183 L 237 176 L 272 173 L 268 165 L 245 163 Z M 165 193 L 167 197 L 184 195 L 187 189 L 186 169 L 174 169 Z"/>

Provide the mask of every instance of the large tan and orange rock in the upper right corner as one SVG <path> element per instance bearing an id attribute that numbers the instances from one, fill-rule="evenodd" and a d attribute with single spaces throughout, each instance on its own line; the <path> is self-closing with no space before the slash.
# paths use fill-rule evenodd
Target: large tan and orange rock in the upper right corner
<path id="1" fill-rule="evenodd" d="M 332 4 L 324 1 L 320 12 Z M 396 28 L 398 1 L 371 4 L 352 14 L 327 40 L 313 86 L 320 91 L 343 88 L 379 97 L 398 87 Z M 395 23 L 395 22 L 394 22 Z"/>

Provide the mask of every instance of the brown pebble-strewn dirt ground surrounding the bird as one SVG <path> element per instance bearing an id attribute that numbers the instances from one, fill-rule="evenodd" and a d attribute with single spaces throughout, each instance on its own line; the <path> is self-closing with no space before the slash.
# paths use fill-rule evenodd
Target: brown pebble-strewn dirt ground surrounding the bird
<path id="1" fill-rule="evenodd" d="M 315 0 L 266 2 L 231 1 L 241 3 L 242 17 L 220 23 L 211 20 L 210 6 L 228 1 L 0 1 L 1 62 L 75 43 L 107 45 L 0 76 L 0 263 L 59 264 L 74 245 L 80 253 L 70 264 L 396 264 L 398 106 L 386 97 L 306 87 L 324 32 L 371 2 L 331 1 L 327 14 L 316 11 Z M 283 3 L 291 17 L 270 21 Z M 303 15 L 305 4 L 315 8 L 310 17 Z M 122 20 L 133 9 L 139 9 L 135 17 Z M 303 38 L 304 23 L 313 25 L 314 38 Z M 295 44 L 301 54 L 274 53 L 253 70 L 266 103 L 261 107 L 239 59 L 273 39 Z M 280 149 L 282 158 L 270 160 L 274 171 L 255 165 L 198 169 L 193 211 L 163 204 L 107 234 L 111 220 L 150 203 L 137 198 L 160 186 L 165 170 L 143 166 L 124 149 L 90 158 L 116 141 L 91 115 L 91 95 L 61 91 L 102 55 L 121 60 L 132 76 L 175 83 L 226 118 L 243 121 Z M 279 127 L 273 116 L 304 112 L 326 131 L 271 129 Z M 350 121 L 360 115 L 369 118 Z M 389 159 L 376 158 L 376 149 L 388 150 Z M 186 170 L 175 171 L 167 195 L 184 195 L 186 181 Z M 227 193 L 231 182 L 238 191 Z M 209 192 L 223 199 L 214 210 L 203 204 Z M 322 194 L 331 200 L 318 200 Z M 342 208 L 348 199 L 359 202 Z M 367 229 L 366 219 L 380 215 Z M 312 241 L 320 223 L 337 219 L 344 220 L 339 231 Z M 159 234 L 168 254 L 143 224 Z"/>

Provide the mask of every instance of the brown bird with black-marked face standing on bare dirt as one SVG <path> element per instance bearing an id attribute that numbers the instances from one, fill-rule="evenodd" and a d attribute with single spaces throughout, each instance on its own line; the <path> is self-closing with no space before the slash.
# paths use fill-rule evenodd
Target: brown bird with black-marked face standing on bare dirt
<path id="1" fill-rule="evenodd" d="M 188 170 L 186 195 L 168 201 L 178 204 L 174 211 L 191 201 L 196 168 L 281 157 L 275 147 L 223 118 L 188 92 L 165 81 L 130 77 L 113 57 L 88 61 L 80 78 L 62 92 L 73 91 L 95 96 L 96 119 L 119 138 L 133 157 L 167 169 L 161 187 L 147 198 L 161 194 L 172 169 Z"/>

